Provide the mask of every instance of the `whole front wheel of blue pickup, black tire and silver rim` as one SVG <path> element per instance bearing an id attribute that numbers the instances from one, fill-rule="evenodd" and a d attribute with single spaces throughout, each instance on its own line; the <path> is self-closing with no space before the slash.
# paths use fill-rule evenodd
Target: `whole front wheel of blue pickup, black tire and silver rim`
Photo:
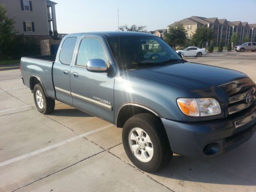
<path id="1" fill-rule="evenodd" d="M 152 114 L 141 113 L 129 118 L 123 126 L 122 140 L 129 159 L 145 172 L 156 172 L 173 157 L 162 122 Z"/>

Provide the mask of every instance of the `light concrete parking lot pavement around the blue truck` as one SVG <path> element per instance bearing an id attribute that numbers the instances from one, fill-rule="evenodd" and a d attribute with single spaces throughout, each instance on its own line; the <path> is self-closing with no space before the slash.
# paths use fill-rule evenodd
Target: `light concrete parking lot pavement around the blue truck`
<path id="1" fill-rule="evenodd" d="M 256 82 L 256 53 L 187 60 Z M 40 114 L 20 78 L 0 71 L 0 191 L 256 191 L 256 135 L 221 156 L 174 155 L 160 172 L 143 173 L 125 155 L 121 129 L 58 101 Z"/>

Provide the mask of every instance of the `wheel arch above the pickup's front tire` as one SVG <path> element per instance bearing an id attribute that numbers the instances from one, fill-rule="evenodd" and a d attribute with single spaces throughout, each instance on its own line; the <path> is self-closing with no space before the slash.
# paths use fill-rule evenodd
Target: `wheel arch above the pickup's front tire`
<path id="1" fill-rule="evenodd" d="M 139 103 L 125 103 L 121 106 L 116 116 L 116 126 L 123 127 L 124 123 L 132 116 L 139 113 L 150 113 L 157 117 L 161 117 L 155 110 L 148 108 Z"/>

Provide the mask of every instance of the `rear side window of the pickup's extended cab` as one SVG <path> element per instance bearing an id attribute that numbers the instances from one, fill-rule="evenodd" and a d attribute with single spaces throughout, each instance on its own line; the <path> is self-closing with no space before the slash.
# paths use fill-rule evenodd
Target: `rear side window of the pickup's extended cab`
<path id="1" fill-rule="evenodd" d="M 60 53 L 59 60 L 62 64 L 70 65 L 76 45 L 77 37 L 68 37 L 64 40 Z"/>

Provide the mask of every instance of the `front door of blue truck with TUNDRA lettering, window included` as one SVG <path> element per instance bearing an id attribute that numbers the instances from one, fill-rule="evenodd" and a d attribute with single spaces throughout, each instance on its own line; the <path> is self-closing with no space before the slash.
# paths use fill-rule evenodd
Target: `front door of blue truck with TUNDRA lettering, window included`
<path id="1" fill-rule="evenodd" d="M 84 112 L 113 122 L 114 77 L 106 72 L 90 72 L 86 68 L 90 59 L 102 59 L 110 67 L 102 42 L 96 37 L 81 37 L 78 47 L 70 76 L 73 105 Z"/>

